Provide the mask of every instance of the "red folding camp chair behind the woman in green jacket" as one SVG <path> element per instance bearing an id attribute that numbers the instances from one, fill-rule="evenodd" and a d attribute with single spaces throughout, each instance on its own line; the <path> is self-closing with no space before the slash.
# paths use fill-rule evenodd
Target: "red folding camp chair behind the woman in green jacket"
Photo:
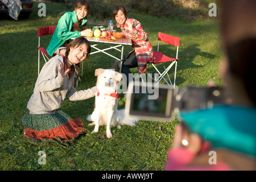
<path id="1" fill-rule="evenodd" d="M 40 52 L 43 55 L 44 61 L 48 61 L 49 60 L 49 55 L 46 51 L 46 49 L 44 49 L 43 47 L 40 47 L 40 37 L 44 36 L 44 35 L 52 35 L 53 32 L 55 31 L 56 26 L 48 26 L 48 27 L 42 27 L 42 28 L 38 28 L 38 75 L 39 75 L 39 64 L 40 64 Z M 47 59 L 47 60 L 46 60 Z"/>

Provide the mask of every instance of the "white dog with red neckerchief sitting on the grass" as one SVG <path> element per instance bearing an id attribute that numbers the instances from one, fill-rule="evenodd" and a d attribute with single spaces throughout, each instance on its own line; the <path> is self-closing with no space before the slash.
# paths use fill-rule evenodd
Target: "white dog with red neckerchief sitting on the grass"
<path id="1" fill-rule="evenodd" d="M 92 133 L 98 132 L 98 127 L 106 125 L 106 135 L 108 138 L 112 137 L 110 130 L 111 126 L 120 125 L 135 126 L 138 121 L 136 118 L 126 117 L 125 110 L 117 110 L 119 101 L 119 94 L 117 93 L 118 82 L 121 81 L 121 73 L 115 72 L 111 69 L 96 69 L 95 76 L 97 77 L 97 88 L 95 99 L 95 108 L 91 115 L 86 119 L 92 121 L 89 125 L 95 125 Z"/>

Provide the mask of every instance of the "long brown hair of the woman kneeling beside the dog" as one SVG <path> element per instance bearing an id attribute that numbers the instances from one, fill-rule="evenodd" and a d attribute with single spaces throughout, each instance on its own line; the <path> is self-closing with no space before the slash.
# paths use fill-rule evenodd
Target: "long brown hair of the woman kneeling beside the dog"
<path id="1" fill-rule="evenodd" d="M 69 55 L 71 47 L 77 48 L 77 47 L 82 46 L 82 44 L 86 44 L 86 47 L 87 47 L 87 56 L 86 56 L 86 60 L 85 60 L 87 62 L 89 60 L 90 49 L 91 48 L 90 48 L 90 42 L 83 36 L 80 36 L 80 37 L 76 38 L 75 40 L 73 40 L 71 43 L 68 44 L 67 50 L 66 50 L 66 53 L 65 53 L 65 58 L 68 59 L 68 55 Z M 76 84 L 76 82 L 79 78 L 80 63 L 76 64 L 76 69 L 77 69 L 77 76 L 76 76 L 76 80 L 74 82 L 74 85 Z"/>

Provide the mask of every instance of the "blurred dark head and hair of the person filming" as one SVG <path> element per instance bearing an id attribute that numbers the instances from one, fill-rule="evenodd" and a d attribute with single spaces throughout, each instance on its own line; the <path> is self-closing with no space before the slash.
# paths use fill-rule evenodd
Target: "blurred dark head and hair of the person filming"
<path id="1" fill-rule="evenodd" d="M 256 106 L 256 1 L 225 0 L 219 3 L 222 47 L 228 58 L 228 71 L 241 79 L 247 95 Z"/>

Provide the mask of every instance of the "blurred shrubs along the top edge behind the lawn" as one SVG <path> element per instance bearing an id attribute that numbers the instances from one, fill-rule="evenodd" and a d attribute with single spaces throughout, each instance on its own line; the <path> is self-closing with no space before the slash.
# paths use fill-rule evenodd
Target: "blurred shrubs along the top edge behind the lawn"
<path id="1" fill-rule="evenodd" d="M 75 6 L 77 0 L 64 0 Z M 158 18 L 184 18 L 191 20 L 208 16 L 208 5 L 216 0 L 87 0 L 90 5 L 90 17 L 93 19 L 111 19 L 115 6 L 122 5 L 127 13 L 140 13 Z"/>

